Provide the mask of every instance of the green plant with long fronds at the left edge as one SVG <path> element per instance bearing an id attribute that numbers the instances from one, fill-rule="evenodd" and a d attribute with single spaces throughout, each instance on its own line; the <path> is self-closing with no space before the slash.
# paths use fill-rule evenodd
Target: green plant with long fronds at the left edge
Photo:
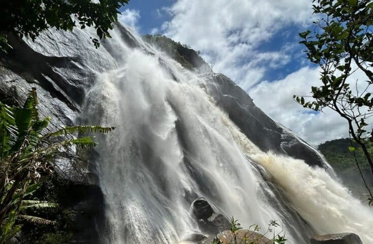
<path id="1" fill-rule="evenodd" d="M 27 208 L 55 207 L 45 201 L 26 197 L 39 188 L 41 175 L 53 173 L 58 158 L 71 158 L 71 146 L 93 147 L 91 137 L 78 137 L 79 132 L 108 133 L 114 128 L 98 126 L 66 127 L 45 133 L 50 118 L 40 119 L 38 99 L 33 88 L 23 107 L 10 107 L 0 102 L 0 244 L 6 243 L 18 230 L 18 219 L 37 224 L 54 224 L 41 217 L 24 214 Z"/>

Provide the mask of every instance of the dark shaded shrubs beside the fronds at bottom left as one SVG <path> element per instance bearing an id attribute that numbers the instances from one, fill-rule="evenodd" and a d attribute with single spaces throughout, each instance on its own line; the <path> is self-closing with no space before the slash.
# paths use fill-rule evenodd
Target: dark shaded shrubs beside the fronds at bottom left
<path id="1" fill-rule="evenodd" d="M 76 194 L 82 194 L 82 192 L 76 190 L 79 188 L 76 182 L 67 180 L 58 174 L 43 175 L 38 185 L 39 188 L 23 201 L 30 204 L 47 202 L 52 205 L 47 208 L 27 207 L 22 210 L 21 214 L 51 220 L 53 224 L 38 224 L 19 219 L 18 222 L 23 224 L 22 241 L 19 244 L 70 243 L 76 231 L 75 215 L 70 210 L 70 199 L 75 201 Z M 85 228 L 89 227 L 85 226 Z"/>

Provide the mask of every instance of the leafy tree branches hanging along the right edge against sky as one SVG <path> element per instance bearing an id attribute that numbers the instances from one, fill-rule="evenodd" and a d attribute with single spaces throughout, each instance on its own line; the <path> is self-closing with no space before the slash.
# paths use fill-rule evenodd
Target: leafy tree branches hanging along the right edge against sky
<path id="1" fill-rule="evenodd" d="M 369 92 L 373 83 L 373 3 L 371 0 L 313 0 L 313 3 L 314 14 L 321 19 L 314 22 L 312 30 L 299 36 L 300 43 L 307 48 L 308 59 L 321 69 L 322 84 L 311 87 L 312 96 L 293 98 L 305 108 L 315 111 L 329 108 L 345 118 L 350 136 L 362 149 L 373 175 L 373 160 L 364 144 L 366 139 L 373 140 L 373 130 L 367 131 L 373 115 L 373 95 Z M 357 70 L 365 77 L 352 78 Z"/>

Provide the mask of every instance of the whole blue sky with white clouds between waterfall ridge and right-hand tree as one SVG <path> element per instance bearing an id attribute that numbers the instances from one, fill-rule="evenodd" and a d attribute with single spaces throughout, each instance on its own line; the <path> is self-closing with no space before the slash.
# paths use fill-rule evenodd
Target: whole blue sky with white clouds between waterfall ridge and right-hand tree
<path id="1" fill-rule="evenodd" d="M 348 137 L 333 111 L 293 101 L 320 84 L 299 44 L 316 16 L 311 0 L 131 0 L 120 21 L 139 34 L 163 34 L 199 50 L 214 72 L 240 85 L 270 117 L 313 145 Z"/>

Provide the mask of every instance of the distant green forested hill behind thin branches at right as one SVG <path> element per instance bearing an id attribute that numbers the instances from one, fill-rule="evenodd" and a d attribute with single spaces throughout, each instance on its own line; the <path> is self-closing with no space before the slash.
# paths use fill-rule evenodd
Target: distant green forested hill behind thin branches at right
<path id="1" fill-rule="evenodd" d="M 333 167 L 337 176 L 342 179 L 345 186 L 349 188 L 355 196 L 365 199 L 364 195 L 367 194 L 367 191 L 357 169 L 354 155 L 349 150 L 350 146 L 350 140 L 345 138 L 326 141 L 320 144 L 318 149 L 325 156 L 328 163 Z M 369 165 L 361 149 L 358 149 L 359 147 L 356 144 L 353 144 L 353 146 L 356 148 L 356 158 L 363 175 L 369 187 L 373 190 L 373 177 Z M 367 141 L 366 146 L 369 152 L 373 155 L 373 143 Z"/>

